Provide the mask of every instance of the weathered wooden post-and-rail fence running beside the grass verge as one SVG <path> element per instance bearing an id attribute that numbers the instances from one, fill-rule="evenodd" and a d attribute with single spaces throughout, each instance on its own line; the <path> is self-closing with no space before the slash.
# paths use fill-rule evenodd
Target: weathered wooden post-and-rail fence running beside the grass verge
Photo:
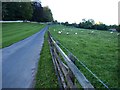
<path id="1" fill-rule="evenodd" d="M 73 60 L 71 60 L 70 57 L 67 56 L 63 52 L 63 50 L 57 45 L 57 43 L 54 41 L 49 31 L 48 31 L 48 42 L 50 45 L 50 52 L 51 52 L 55 72 L 58 76 L 60 88 L 77 89 L 77 86 L 75 85 L 75 78 L 76 78 L 83 89 L 94 89 L 92 84 L 76 67 Z"/>

